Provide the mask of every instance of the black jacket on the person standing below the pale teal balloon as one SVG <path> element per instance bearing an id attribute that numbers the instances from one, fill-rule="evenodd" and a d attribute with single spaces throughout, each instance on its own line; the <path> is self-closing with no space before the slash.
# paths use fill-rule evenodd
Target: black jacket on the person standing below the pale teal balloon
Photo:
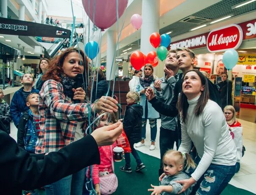
<path id="1" fill-rule="evenodd" d="M 222 103 L 222 109 L 227 105 L 232 105 L 232 81 L 221 81 L 219 84 L 220 98 Z M 227 103 L 228 98 L 228 103 Z"/>

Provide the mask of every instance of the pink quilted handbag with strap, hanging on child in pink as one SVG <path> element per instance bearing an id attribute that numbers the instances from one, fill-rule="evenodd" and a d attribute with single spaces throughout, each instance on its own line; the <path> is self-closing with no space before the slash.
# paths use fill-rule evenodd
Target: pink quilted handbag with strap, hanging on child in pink
<path id="1" fill-rule="evenodd" d="M 111 154 L 112 154 L 112 169 L 114 172 L 114 159 L 113 152 L 111 146 Z M 113 194 L 117 190 L 118 180 L 115 173 L 110 173 L 109 175 L 100 177 L 100 193 L 102 195 Z"/>

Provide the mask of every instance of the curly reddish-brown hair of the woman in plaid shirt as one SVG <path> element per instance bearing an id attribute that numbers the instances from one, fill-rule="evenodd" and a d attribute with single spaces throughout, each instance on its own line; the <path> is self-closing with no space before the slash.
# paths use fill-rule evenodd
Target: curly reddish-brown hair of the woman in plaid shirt
<path id="1" fill-rule="evenodd" d="M 50 61 L 50 65 L 49 65 L 50 68 L 49 68 L 49 70 L 46 71 L 45 75 L 42 76 L 42 80 L 47 81 L 47 80 L 53 79 L 55 81 L 60 82 L 61 78 L 59 76 L 61 75 L 61 73 L 64 73 L 63 69 L 62 69 L 64 60 L 68 56 L 68 54 L 70 54 L 72 52 L 77 52 L 78 54 L 81 55 L 81 57 L 82 57 L 81 60 L 83 60 L 83 64 L 85 66 L 83 75 L 85 75 L 89 69 L 87 57 L 85 57 L 85 55 L 81 49 L 70 47 L 70 48 L 67 48 L 66 50 L 62 51 L 60 55 L 54 57 L 53 60 Z"/>

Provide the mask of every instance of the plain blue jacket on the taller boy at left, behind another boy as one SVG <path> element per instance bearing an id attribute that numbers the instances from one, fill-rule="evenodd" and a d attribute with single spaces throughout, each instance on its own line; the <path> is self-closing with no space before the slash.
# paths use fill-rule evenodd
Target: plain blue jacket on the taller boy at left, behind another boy
<path id="1" fill-rule="evenodd" d="M 14 125 L 17 128 L 19 125 L 19 119 L 20 119 L 21 113 L 29 109 L 23 98 L 23 94 L 22 94 L 23 89 L 24 87 L 20 88 L 17 92 L 14 93 L 11 99 L 11 105 L 10 105 L 11 118 L 14 122 Z M 39 91 L 32 87 L 31 93 L 39 93 Z"/>

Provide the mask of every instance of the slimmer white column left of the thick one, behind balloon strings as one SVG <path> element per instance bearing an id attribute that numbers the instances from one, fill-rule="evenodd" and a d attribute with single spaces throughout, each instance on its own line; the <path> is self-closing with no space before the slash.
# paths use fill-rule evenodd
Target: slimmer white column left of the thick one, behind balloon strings
<path id="1" fill-rule="evenodd" d="M 110 81 L 115 78 L 115 69 L 116 69 L 116 43 L 117 43 L 117 32 L 113 30 L 107 31 L 107 65 L 106 65 L 106 80 Z M 113 60 L 114 59 L 114 60 Z M 111 66 L 112 71 L 111 71 Z"/>

